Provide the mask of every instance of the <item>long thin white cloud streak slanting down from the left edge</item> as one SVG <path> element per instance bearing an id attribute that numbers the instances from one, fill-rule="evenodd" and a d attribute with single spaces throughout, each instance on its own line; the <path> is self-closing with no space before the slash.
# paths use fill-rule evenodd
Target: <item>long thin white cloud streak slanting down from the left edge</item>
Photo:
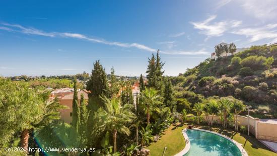
<path id="1" fill-rule="evenodd" d="M 149 46 L 146 46 L 146 45 L 140 44 L 140 43 L 111 42 L 111 41 L 107 41 L 104 39 L 88 37 L 86 35 L 79 34 L 79 33 L 44 32 L 42 30 L 38 30 L 38 29 L 34 29 L 34 28 L 26 28 L 26 27 L 23 27 L 18 24 L 9 24 L 9 23 L 0 23 L 0 24 L 6 26 L 8 28 L 8 29 L 7 28 L 2 29 L 2 30 L 6 30 L 6 31 L 20 32 L 20 33 L 24 33 L 24 34 L 40 35 L 40 36 L 47 36 L 47 37 L 78 38 L 78 39 L 87 40 L 87 41 L 96 42 L 96 43 L 102 43 L 102 44 L 106 44 L 106 45 L 114 45 L 114 46 L 128 47 L 128 48 L 134 47 L 134 48 L 150 51 L 152 53 L 157 51 L 157 49 L 155 49 L 155 48 L 151 48 Z M 181 33 L 179 35 L 181 35 Z M 185 53 L 184 53 L 184 51 L 179 51 L 179 52 L 175 51 L 174 53 L 172 53 L 172 52 L 168 53 L 166 51 L 161 51 L 161 53 L 163 53 L 163 54 L 171 54 L 171 55 L 197 55 L 197 54 L 200 54 L 200 53 L 198 53 L 198 51 L 195 51 L 195 53 L 193 51 L 188 51 L 188 52 L 186 51 Z"/>

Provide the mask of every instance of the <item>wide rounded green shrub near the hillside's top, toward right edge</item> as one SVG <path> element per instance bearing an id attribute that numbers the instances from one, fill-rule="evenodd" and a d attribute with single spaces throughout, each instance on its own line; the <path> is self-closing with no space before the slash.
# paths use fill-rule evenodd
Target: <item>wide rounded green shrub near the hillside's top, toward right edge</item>
<path id="1" fill-rule="evenodd" d="M 241 60 L 242 67 L 249 67 L 252 70 L 259 70 L 265 66 L 266 58 L 263 56 L 250 56 Z"/>

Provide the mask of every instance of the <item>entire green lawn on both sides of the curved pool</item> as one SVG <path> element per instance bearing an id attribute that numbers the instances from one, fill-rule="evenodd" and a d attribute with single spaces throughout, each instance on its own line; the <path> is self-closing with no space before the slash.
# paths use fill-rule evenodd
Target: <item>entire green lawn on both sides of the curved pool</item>
<path id="1" fill-rule="evenodd" d="M 162 155 L 165 146 L 167 147 L 165 155 L 174 155 L 178 153 L 185 147 L 185 140 L 181 133 L 182 129 L 184 129 L 185 127 L 186 125 L 169 127 L 158 142 L 151 143 L 151 145 L 146 148 L 150 149 L 151 155 Z M 277 155 L 277 153 L 274 153 L 273 151 L 265 147 L 262 143 L 260 143 L 257 139 L 255 139 L 253 135 L 247 136 L 247 134 L 235 132 L 232 129 L 224 130 L 221 127 L 201 126 L 197 128 L 215 131 L 236 140 L 237 142 L 244 145 L 244 148 L 249 156 Z"/>

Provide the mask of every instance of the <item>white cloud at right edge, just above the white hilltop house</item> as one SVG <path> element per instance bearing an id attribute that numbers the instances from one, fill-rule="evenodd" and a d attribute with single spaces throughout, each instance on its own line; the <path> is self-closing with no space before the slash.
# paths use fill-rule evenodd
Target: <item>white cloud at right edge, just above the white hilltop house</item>
<path id="1" fill-rule="evenodd" d="M 249 39 L 249 42 L 254 42 L 262 39 L 272 39 L 277 40 L 277 24 L 268 24 L 263 27 L 256 28 L 243 28 L 232 33 L 238 35 L 245 35 Z"/>

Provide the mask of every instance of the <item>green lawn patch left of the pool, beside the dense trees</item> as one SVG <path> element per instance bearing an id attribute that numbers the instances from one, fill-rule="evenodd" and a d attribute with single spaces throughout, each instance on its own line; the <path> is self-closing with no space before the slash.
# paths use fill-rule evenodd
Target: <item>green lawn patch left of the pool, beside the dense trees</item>
<path id="1" fill-rule="evenodd" d="M 186 125 L 170 126 L 162 135 L 158 142 L 152 142 L 147 149 L 150 149 L 150 155 L 162 155 L 164 147 L 167 147 L 165 155 L 174 155 L 185 147 L 185 139 L 182 130 Z"/>

